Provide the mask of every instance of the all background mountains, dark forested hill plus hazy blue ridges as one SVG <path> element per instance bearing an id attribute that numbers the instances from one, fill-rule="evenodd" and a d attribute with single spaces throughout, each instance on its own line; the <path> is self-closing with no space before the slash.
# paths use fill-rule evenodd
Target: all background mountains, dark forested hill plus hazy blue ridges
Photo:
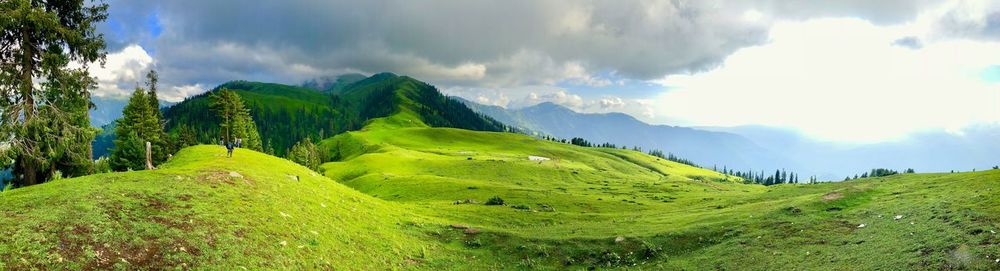
<path id="1" fill-rule="evenodd" d="M 553 103 L 517 109 L 482 105 L 458 97 L 446 98 L 433 86 L 389 73 L 323 77 L 302 86 L 233 81 L 215 89 L 221 87 L 237 90 L 243 96 L 253 109 L 265 141 L 270 141 L 265 144 L 278 154 L 304 137 L 319 140 L 358 129 L 369 119 L 406 110 L 431 126 L 487 131 L 510 126 L 529 134 L 659 149 L 708 168 L 787 169 L 823 180 L 842 180 L 882 167 L 942 172 L 987 169 L 1000 164 L 1000 124 L 974 127 L 962 134 L 925 132 L 894 142 L 841 144 L 764 126 L 651 125 L 623 113 L 579 113 Z M 405 100 L 399 100 L 401 97 Z M 200 141 L 214 138 L 217 127 L 203 104 L 206 98 L 207 94 L 191 97 L 179 106 L 161 102 L 171 106 L 164 110 L 168 128 L 190 125 L 199 131 Z M 94 97 L 93 101 L 97 108 L 91 111 L 91 122 L 99 127 L 119 118 L 127 103 L 126 98 Z M 408 104 L 411 106 L 401 107 Z M 470 114 L 473 111 L 485 118 Z M 99 136 L 96 154 L 105 154 L 103 150 L 112 145 L 112 130 L 105 129 Z"/>

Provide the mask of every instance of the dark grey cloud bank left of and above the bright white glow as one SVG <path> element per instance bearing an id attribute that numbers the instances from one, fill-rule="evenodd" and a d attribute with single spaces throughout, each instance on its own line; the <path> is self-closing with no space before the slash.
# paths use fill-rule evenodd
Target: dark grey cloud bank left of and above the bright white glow
<path id="1" fill-rule="evenodd" d="M 112 50 L 139 43 L 163 82 L 298 83 L 391 71 L 435 84 L 511 87 L 714 68 L 767 42 L 771 19 L 912 19 L 939 1 L 110 0 Z M 748 10 L 765 19 L 747 20 Z M 152 20 L 151 20 L 152 19 Z M 162 27 L 150 31 L 150 22 Z"/>

